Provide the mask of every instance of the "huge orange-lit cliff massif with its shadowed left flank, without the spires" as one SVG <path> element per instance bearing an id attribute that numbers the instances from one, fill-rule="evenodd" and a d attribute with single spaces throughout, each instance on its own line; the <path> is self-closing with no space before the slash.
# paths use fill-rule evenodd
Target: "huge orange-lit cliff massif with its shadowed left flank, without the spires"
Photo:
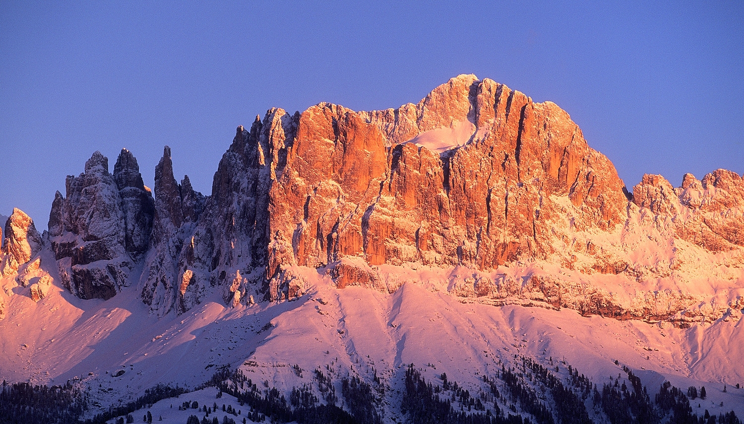
<path id="1" fill-rule="evenodd" d="M 702 269 L 737 278 L 711 256 L 733 248 L 725 262 L 742 261 L 744 196 L 739 180 L 721 173 L 694 195 L 689 177 L 687 188 L 663 193 L 644 191 L 644 179 L 633 203 L 609 159 L 557 105 L 472 75 L 397 110 L 272 109 L 238 128 L 205 214 L 173 256 L 166 298 L 179 311 L 208 285 L 229 286 L 226 302 L 291 298 L 303 292 L 295 266 L 320 268 L 339 287 L 394 291 L 400 282 L 385 282 L 377 265 L 463 265 L 475 282 L 452 291 L 465 297 L 667 319 L 713 293 L 690 283 Z M 730 188 L 714 190 L 713 180 Z M 647 209 L 667 194 L 684 207 Z M 684 200 L 701 196 L 708 200 L 699 206 Z M 709 259 L 702 268 L 691 259 L 701 255 Z M 517 261 L 578 274 L 481 275 Z"/>

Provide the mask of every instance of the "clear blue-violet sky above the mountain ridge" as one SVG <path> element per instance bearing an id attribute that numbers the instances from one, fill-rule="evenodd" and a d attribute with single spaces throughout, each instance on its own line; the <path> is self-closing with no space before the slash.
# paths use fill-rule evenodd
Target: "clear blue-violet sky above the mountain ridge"
<path id="1" fill-rule="evenodd" d="M 744 173 L 744 2 L 0 0 L 0 214 L 47 227 L 91 154 L 211 193 L 269 107 L 417 102 L 458 74 L 554 101 L 626 186 Z"/>

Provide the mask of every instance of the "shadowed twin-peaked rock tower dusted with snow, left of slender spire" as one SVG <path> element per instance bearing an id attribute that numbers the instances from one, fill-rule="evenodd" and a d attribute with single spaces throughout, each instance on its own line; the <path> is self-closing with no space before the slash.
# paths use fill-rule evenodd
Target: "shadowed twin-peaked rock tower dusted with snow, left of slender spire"
<path id="1" fill-rule="evenodd" d="M 126 149 L 109 174 L 106 156 L 95 152 L 85 172 L 68 176 L 49 214 L 49 240 L 62 284 L 83 299 L 109 299 L 129 285 L 133 262 L 149 244 L 153 197 L 137 160 Z"/>

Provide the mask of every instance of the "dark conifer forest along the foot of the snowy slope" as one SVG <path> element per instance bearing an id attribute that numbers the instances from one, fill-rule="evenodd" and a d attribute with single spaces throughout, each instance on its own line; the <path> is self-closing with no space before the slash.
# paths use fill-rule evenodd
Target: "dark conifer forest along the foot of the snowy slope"
<path id="1" fill-rule="evenodd" d="M 515 359 L 518 359 L 516 355 Z M 493 375 L 483 376 L 486 388 L 479 389 L 478 393 L 470 393 L 458 382 L 447 379 L 445 373 L 440 376 L 441 385 L 427 382 L 411 364 L 405 370 L 401 411 L 408 422 L 422 424 L 591 424 L 588 407 L 593 408 L 594 414 L 606 416 L 612 424 L 742 424 L 733 411 L 718 416 L 705 411 L 703 417 L 697 417 L 688 399 L 692 390 L 683 393 L 669 382 L 661 385 L 652 401 L 641 379 L 628 367 L 623 367 L 626 379 L 618 375 L 614 382 L 611 379 L 600 390 L 571 365 L 567 367 L 568 378 L 565 378 L 557 375 L 559 367 L 554 373 L 553 368 L 546 368 L 530 358 L 519 359 L 521 363 L 518 361 L 516 368 L 502 366 Z M 217 397 L 222 393 L 236 397 L 240 405 L 248 405 L 245 416 L 259 423 L 268 419 L 272 423 L 382 424 L 384 417 L 379 414 L 378 407 L 384 391 L 379 379 L 374 380 L 376 387 L 372 387 L 356 376 L 342 378 L 342 399 L 336 396 L 330 374 L 318 368 L 314 379 L 325 404 L 315 396 L 312 385 L 292 387 L 288 402 L 282 392 L 269 387 L 268 382 L 259 387 L 241 370 L 231 372 L 228 368 L 218 370 L 209 382 L 197 389 L 218 387 Z M 186 392 L 179 386 L 157 385 L 145 390 L 135 401 L 111 406 L 83 423 L 80 417 L 87 411 L 89 400 L 83 390 L 69 382 L 51 387 L 3 382 L 0 424 L 101 424 Z M 345 410 L 339 402 L 344 402 Z M 507 405 L 511 412 L 504 412 L 499 402 Z M 191 417 L 190 420 L 193 422 Z M 199 423 L 202 421 L 205 420 Z"/>

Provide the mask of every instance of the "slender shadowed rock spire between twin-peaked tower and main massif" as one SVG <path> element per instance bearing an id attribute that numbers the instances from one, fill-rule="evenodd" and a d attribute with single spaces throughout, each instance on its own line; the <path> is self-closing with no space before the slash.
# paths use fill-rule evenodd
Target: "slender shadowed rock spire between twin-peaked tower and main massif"
<path id="1" fill-rule="evenodd" d="M 157 314 L 167 314 L 176 307 L 185 310 L 183 305 L 193 273 L 182 273 L 179 278 L 180 253 L 184 241 L 193 240 L 193 226 L 204 203 L 205 197 L 191 188 L 187 176 L 180 185 L 176 183 L 170 148 L 165 146 L 163 157 L 155 166 L 153 250 L 141 277 L 142 300 Z"/>

